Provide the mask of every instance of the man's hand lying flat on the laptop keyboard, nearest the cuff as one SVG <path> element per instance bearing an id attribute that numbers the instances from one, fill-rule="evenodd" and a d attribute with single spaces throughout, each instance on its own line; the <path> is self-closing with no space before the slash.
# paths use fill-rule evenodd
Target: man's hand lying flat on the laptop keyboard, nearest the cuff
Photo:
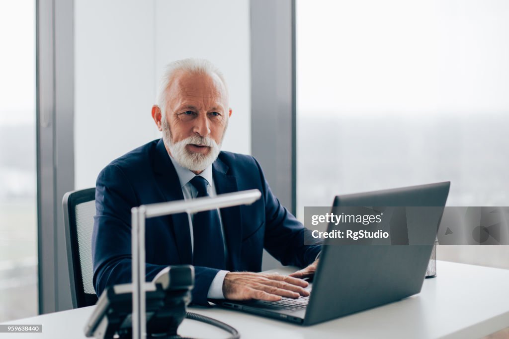
<path id="1" fill-rule="evenodd" d="M 295 273 L 293 273 L 295 274 Z M 308 296 L 308 283 L 277 273 L 229 272 L 224 276 L 223 295 L 231 300 L 278 301 L 281 297 Z"/>

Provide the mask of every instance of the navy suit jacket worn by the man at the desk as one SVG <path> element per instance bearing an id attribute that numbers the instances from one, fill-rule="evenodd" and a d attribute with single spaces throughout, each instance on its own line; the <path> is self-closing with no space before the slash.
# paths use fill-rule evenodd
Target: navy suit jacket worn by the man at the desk
<path id="1" fill-rule="evenodd" d="M 217 194 L 250 189 L 262 192 L 252 205 L 220 210 L 228 270 L 259 272 L 264 248 L 283 265 L 304 267 L 315 260 L 319 246 L 304 245 L 308 231 L 274 197 L 253 157 L 221 151 L 212 173 Z M 162 139 L 130 151 L 101 171 L 92 233 L 97 295 L 107 286 L 131 282 L 131 208 L 182 199 L 180 181 Z M 147 219 L 145 241 L 146 281 L 168 265 L 192 264 L 186 213 Z M 207 304 L 208 290 L 218 270 L 194 269 L 192 301 Z"/>

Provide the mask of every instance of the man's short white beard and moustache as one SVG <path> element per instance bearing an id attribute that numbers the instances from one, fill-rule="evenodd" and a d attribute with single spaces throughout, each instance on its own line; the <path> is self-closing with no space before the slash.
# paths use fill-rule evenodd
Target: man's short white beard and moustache
<path id="1" fill-rule="evenodd" d="M 195 172 L 203 171 L 210 164 L 216 161 L 221 146 L 210 137 L 201 137 L 198 135 L 193 135 L 189 138 L 173 143 L 172 134 L 169 130 L 166 119 L 162 120 L 162 139 L 168 146 L 173 159 L 175 159 L 180 166 Z M 207 154 L 191 152 L 186 148 L 186 145 L 189 144 L 208 146 L 210 147 L 209 152 Z"/>

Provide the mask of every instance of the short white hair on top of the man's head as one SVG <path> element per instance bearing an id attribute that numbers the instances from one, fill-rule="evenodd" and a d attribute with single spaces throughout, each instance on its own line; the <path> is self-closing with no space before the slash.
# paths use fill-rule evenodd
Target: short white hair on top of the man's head
<path id="1" fill-rule="evenodd" d="M 224 86 L 226 91 L 226 100 L 228 102 L 228 87 L 226 85 L 226 81 L 224 80 L 224 76 L 222 75 L 221 71 L 219 71 L 219 69 L 214 64 L 212 64 L 207 59 L 187 58 L 176 60 L 166 65 L 164 73 L 161 77 L 161 81 L 159 83 L 156 103 L 157 106 L 159 106 L 161 109 L 163 118 L 165 118 L 166 115 L 168 87 L 174 79 L 174 75 L 180 71 L 190 74 L 209 74 L 211 76 L 214 74 L 217 75 Z M 225 109 L 228 109 L 228 107 L 225 107 Z"/>

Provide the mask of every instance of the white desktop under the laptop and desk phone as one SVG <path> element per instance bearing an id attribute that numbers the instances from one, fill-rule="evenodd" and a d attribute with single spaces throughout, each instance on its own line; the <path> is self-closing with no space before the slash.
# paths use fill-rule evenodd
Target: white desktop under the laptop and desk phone
<path id="1" fill-rule="evenodd" d="M 437 262 L 438 276 L 420 294 L 322 324 L 302 327 L 219 308 L 189 307 L 237 328 L 241 338 L 479 338 L 509 326 L 509 270 Z M 2 338 L 84 338 L 93 307 L 6 324 L 42 324 L 43 333 L 0 333 Z M 184 320 L 179 334 L 224 338 L 212 326 Z"/>

